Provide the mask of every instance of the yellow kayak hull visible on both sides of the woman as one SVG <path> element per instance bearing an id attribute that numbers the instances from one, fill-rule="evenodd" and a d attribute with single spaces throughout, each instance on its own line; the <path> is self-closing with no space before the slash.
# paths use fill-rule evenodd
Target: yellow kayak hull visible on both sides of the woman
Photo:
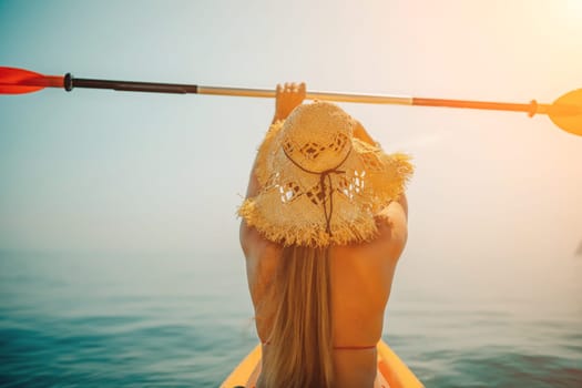
<path id="1" fill-rule="evenodd" d="M 378 377 L 376 387 L 422 388 L 423 385 L 408 369 L 405 363 L 380 340 L 378 347 Z M 224 380 L 221 388 L 254 388 L 261 372 L 261 345 L 257 345 Z"/>

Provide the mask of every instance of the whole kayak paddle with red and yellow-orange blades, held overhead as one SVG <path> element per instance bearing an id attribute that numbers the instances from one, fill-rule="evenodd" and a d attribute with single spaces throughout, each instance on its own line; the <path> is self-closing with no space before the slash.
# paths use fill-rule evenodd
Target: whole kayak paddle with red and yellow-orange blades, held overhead
<path id="1" fill-rule="evenodd" d="M 253 98 L 275 96 L 274 90 L 265 89 L 217 88 L 176 83 L 75 79 L 70 73 L 67 73 L 64 76 L 43 75 L 29 70 L 0 67 L 0 94 L 31 93 L 40 91 L 44 88 L 64 88 L 67 91 L 72 91 L 74 88 L 91 88 L 153 93 L 195 93 Z M 309 100 L 340 102 L 527 112 L 530 118 L 535 114 L 547 114 L 550 120 L 552 120 L 552 122 L 560 129 L 564 130 L 565 132 L 582 136 L 582 89 L 576 89 L 565 93 L 552 104 L 540 104 L 535 100 L 532 100 L 527 104 L 520 104 L 508 102 L 423 99 L 413 96 L 346 94 L 333 92 L 308 92 L 306 98 Z"/>

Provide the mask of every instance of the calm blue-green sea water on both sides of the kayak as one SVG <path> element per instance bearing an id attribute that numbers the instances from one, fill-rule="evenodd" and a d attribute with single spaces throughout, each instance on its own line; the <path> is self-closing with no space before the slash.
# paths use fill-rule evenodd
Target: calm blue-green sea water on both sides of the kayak
<path id="1" fill-rule="evenodd" d="M 582 259 L 561 263 L 514 289 L 531 274 L 402 263 L 385 339 L 427 387 L 582 387 Z M 216 387 L 257 340 L 245 282 L 241 257 L 0 253 L 0 386 Z"/>

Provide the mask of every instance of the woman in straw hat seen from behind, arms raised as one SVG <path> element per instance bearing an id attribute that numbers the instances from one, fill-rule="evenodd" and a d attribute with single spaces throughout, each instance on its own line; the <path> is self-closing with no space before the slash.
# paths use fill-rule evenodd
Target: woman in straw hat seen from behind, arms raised
<path id="1" fill-rule="evenodd" d="M 238 212 L 257 387 L 374 387 L 412 167 L 338 106 L 304 99 L 305 84 L 277 86 Z"/>

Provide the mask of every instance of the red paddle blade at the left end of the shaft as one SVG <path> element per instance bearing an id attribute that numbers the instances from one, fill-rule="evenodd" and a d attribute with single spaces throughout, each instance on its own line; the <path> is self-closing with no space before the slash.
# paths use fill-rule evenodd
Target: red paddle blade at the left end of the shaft
<path id="1" fill-rule="evenodd" d="M 63 86 L 64 76 L 42 75 L 30 70 L 0 67 L 0 94 L 23 94 L 44 88 Z"/>

